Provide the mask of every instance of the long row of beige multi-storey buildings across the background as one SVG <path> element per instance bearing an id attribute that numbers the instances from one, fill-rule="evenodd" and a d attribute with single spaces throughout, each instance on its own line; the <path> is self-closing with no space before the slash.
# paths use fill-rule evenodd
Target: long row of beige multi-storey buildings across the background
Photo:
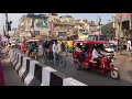
<path id="1" fill-rule="evenodd" d="M 78 36 L 96 32 L 97 25 L 87 20 L 75 20 L 70 15 L 28 14 L 20 19 L 20 37 L 50 36 L 58 40 L 76 40 Z"/>

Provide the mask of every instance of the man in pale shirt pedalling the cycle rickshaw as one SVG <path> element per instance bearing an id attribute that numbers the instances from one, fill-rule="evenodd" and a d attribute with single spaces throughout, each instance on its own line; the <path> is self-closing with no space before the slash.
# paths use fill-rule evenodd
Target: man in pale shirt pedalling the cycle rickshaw
<path id="1" fill-rule="evenodd" d="M 61 46 L 57 44 L 57 42 L 54 42 L 52 50 L 53 50 L 53 56 L 54 56 L 54 64 L 56 64 L 56 54 L 61 52 Z"/>

